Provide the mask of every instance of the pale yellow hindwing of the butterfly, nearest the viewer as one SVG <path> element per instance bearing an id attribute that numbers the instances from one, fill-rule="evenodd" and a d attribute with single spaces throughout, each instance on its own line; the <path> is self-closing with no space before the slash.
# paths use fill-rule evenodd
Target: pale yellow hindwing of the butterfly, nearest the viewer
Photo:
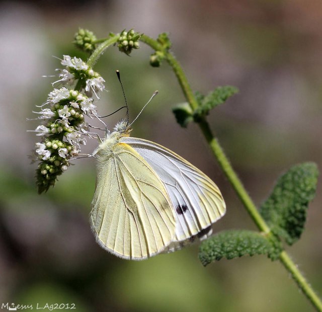
<path id="1" fill-rule="evenodd" d="M 125 259 L 165 250 L 175 237 L 175 215 L 164 184 L 129 145 L 98 155 L 91 223 L 98 243 Z"/>

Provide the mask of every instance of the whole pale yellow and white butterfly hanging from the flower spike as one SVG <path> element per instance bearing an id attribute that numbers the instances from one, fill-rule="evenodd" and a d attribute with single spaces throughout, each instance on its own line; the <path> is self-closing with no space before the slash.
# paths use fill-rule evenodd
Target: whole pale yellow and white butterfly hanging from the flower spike
<path id="1" fill-rule="evenodd" d="M 143 260 L 211 235 L 211 224 L 226 210 L 214 182 L 170 149 L 129 137 L 125 121 L 114 130 L 93 153 L 90 219 L 99 245 Z"/>

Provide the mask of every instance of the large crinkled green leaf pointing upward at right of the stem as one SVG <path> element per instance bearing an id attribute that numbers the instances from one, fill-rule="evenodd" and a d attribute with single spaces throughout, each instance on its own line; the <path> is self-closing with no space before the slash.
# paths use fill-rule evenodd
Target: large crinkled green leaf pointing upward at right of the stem
<path id="1" fill-rule="evenodd" d="M 261 214 L 275 235 L 294 244 L 301 236 L 309 202 L 315 196 L 318 170 L 314 163 L 292 167 L 277 181 L 262 204 Z"/>

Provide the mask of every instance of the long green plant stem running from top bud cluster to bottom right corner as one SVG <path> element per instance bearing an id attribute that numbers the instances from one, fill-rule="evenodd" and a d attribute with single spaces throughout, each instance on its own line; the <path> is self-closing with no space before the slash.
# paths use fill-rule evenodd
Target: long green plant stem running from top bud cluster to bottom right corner
<path id="1" fill-rule="evenodd" d="M 183 90 L 183 93 L 189 102 L 191 108 L 195 110 L 198 107 L 198 103 L 196 101 L 196 98 L 191 90 L 191 87 L 188 83 L 187 77 L 180 65 L 180 63 L 176 60 L 174 55 L 168 51 L 166 51 L 162 45 L 160 45 L 157 41 L 153 40 L 152 38 L 149 38 L 146 35 L 142 35 L 140 38 L 141 41 L 148 44 L 150 47 L 152 47 L 154 50 L 162 51 L 165 53 L 166 59 L 169 63 L 169 65 L 174 70 L 177 79 L 179 81 L 179 84 Z M 217 162 L 219 163 L 219 166 L 221 167 L 222 171 L 226 175 L 228 181 L 232 185 L 233 189 L 235 190 L 237 196 L 243 202 L 246 210 L 250 214 L 251 218 L 256 223 L 257 227 L 264 231 L 265 233 L 270 233 L 270 228 L 259 213 L 258 209 L 256 208 L 253 200 L 247 193 L 243 183 L 238 178 L 237 174 L 233 170 L 233 168 L 230 165 L 230 162 L 228 158 L 226 157 L 222 147 L 220 146 L 218 140 L 214 137 L 212 134 L 212 131 L 210 129 L 210 126 L 206 119 L 203 119 L 199 124 L 199 127 L 205 136 L 210 149 L 212 153 L 214 154 L 214 157 L 216 158 Z M 317 311 L 322 312 L 322 302 L 319 299 L 319 297 L 316 295 L 314 290 L 311 288 L 311 286 L 307 283 L 304 276 L 301 274 L 301 272 L 297 269 L 295 263 L 291 260 L 291 258 L 288 256 L 288 254 L 283 251 L 280 254 L 279 260 L 284 265 L 284 267 L 291 273 L 292 278 L 297 283 L 297 285 L 300 287 L 300 289 L 304 292 L 305 296 L 310 300 L 312 305 L 316 308 Z"/>

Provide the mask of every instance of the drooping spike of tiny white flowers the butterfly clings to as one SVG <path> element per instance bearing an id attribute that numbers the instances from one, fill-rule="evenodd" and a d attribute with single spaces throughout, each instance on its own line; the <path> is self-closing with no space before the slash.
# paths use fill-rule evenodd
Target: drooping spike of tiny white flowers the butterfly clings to
<path id="1" fill-rule="evenodd" d="M 42 137 L 33 152 L 34 160 L 40 162 L 36 171 L 39 193 L 55 184 L 69 161 L 79 155 L 81 144 L 86 144 L 84 135 L 89 125 L 85 116 L 97 116 L 91 95 L 94 93 L 99 98 L 99 91 L 104 90 L 104 79 L 83 60 L 64 55 L 61 64 L 65 69 L 59 69 L 58 82 L 81 87 L 79 91 L 66 87 L 54 89 L 41 110 L 34 112 L 41 122 L 35 132 Z"/>

